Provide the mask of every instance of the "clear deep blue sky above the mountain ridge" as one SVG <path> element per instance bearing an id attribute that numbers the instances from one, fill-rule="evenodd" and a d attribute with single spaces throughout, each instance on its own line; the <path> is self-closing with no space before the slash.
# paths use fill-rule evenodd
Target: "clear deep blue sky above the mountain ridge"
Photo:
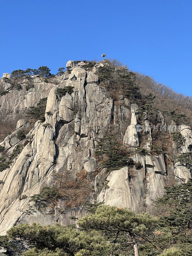
<path id="1" fill-rule="evenodd" d="M 0 77 L 105 52 L 192 96 L 192 0 L 0 0 Z"/>

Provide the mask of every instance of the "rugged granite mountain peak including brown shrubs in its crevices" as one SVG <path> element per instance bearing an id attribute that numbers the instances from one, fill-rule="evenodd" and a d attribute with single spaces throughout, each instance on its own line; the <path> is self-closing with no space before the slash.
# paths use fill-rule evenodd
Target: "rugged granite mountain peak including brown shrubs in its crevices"
<path id="1" fill-rule="evenodd" d="M 190 126 L 177 126 L 183 138 L 178 147 L 163 113 L 154 110 L 152 120 L 146 114 L 149 100 L 146 103 L 141 96 L 132 100 L 130 90 L 126 96 L 122 89 L 110 91 L 100 68 L 109 67 L 114 86 L 123 84 L 121 79 L 135 81 L 130 71 L 86 60 L 69 60 L 66 67 L 64 74 L 49 79 L 22 77 L 17 81 L 21 89 L 8 73 L 1 78 L 0 86 L 6 91 L 0 96 L 2 120 L 14 117 L 15 128 L 0 143 L 1 163 L 6 163 L 0 172 L 0 235 L 18 223 L 72 224 L 71 216 L 85 214 L 85 202 L 104 201 L 135 212 L 152 212 L 153 200 L 163 195 L 164 186 L 191 178 L 190 168 L 175 163 L 173 157 L 191 152 Z M 125 78 L 123 72 L 128 72 Z M 39 118 L 39 111 L 41 119 L 28 117 Z M 164 127 L 164 133 L 156 135 L 154 125 L 159 130 Z M 167 148 L 157 150 L 160 136 Z M 105 138 L 119 141 L 129 154 L 129 164 L 113 170 L 103 165 L 110 160 L 109 154 L 98 157 L 95 152 Z M 76 184 L 76 194 L 68 188 L 69 182 Z M 50 201 L 34 197 L 44 188 L 60 189 L 62 196 Z"/>

